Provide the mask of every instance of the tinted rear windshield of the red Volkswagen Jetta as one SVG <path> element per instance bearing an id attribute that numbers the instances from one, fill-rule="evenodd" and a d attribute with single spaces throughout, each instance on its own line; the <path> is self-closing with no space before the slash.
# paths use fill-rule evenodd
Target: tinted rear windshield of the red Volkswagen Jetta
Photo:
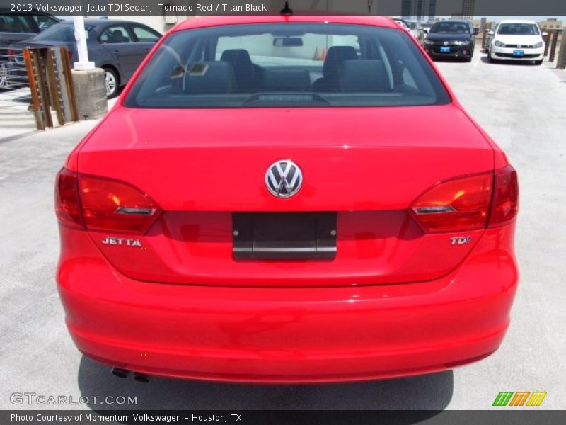
<path id="1" fill-rule="evenodd" d="M 172 33 L 125 99 L 134 108 L 443 103 L 448 94 L 407 33 L 333 23 Z"/>

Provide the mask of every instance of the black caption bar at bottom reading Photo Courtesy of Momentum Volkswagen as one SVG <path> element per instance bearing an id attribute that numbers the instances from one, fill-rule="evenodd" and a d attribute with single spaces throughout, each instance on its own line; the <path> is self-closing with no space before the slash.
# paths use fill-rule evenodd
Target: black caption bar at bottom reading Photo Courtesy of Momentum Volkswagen
<path id="1" fill-rule="evenodd" d="M 4 410 L 0 424 L 565 424 L 563 410 L 494 407 L 490 410 Z"/>

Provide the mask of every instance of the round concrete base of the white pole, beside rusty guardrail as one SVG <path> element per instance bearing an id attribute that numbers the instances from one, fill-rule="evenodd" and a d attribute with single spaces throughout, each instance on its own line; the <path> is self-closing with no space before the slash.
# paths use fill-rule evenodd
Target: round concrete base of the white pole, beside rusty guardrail
<path id="1" fill-rule="evenodd" d="M 108 111 L 104 70 L 101 68 L 88 71 L 71 70 L 73 87 L 79 120 L 102 118 Z"/>

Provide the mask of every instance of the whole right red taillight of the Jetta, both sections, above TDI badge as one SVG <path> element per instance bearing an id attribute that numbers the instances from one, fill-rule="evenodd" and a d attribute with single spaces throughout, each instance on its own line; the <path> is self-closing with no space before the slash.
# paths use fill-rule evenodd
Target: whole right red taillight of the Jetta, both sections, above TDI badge
<path id="1" fill-rule="evenodd" d="M 441 181 L 417 198 L 410 212 L 427 233 L 479 230 L 514 220 L 518 199 L 516 171 L 507 166 Z"/>

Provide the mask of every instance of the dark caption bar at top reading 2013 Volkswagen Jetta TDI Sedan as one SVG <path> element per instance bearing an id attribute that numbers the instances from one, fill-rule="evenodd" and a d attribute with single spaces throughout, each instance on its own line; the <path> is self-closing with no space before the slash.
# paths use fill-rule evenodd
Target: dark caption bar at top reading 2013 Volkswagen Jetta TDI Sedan
<path id="1" fill-rule="evenodd" d="M 56 16 L 277 15 L 284 4 L 285 0 L 0 0 L 0 11 Z M 166 11 L 165 5 L 181 10 Z M 289 8 L 295 15 L 566 16 L 565 0 L 289 0 Z"/>

